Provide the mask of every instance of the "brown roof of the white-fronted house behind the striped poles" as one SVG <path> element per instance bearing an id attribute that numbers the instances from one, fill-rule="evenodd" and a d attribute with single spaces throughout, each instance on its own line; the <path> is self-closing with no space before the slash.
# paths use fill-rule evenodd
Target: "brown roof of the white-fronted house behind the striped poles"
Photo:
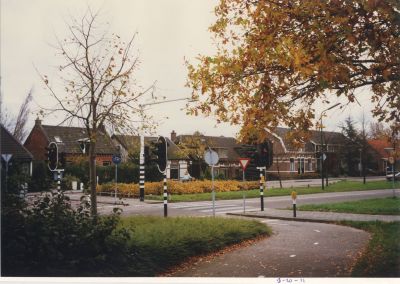
<path id="1" fill-rule="evenodd" d="M 135 135 L 117 135 L 114 134 L 112 135 L 113 139 L 116 139 L 126 150 L 132 150 L 132 149 L 139 149 L 140 147 L 140 136 L 135 136 Z M 158 136 L 145 136 L 144 137 L 144 144 L 146 146 L 150 145 L 151 142 L 156 142 L 158 139 Z M 188 159 L 188 157 L 183 156 L 180 153 L 179 147 L 171 141 L 168 137 L 165 137 L 165 140 L 167 141 L 168 144 L 168 160 L 185 160 Z"/>

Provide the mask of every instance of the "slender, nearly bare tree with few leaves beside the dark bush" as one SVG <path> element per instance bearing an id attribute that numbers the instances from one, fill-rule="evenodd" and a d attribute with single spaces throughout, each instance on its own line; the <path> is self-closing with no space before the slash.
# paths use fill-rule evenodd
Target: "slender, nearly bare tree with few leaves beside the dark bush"
<path id="1" fill-rule="evenodd" d="M 62 123 L 77 121 L 86 128 L 89 139 L 91 214 L 97 215 L 96 140 L 99 129 L 110 126 L 116 132 L 137 130 L 129 123 L 141 112 L 138 99 L 151 93 L 153 85 L 141 90 L 133 79 L 139 59 L 133 56 L 135 35 L 124 42 L 99 24 L 98 12 L 88 8 L 80 18 L 71 17 L 69 36 L 55 46 L 65 64 L 59 66 L 64 87 L 59 92 L 47 75 L 39 73 L 56 99 L 53 111 L 66 114 Z M 51 113 L 52 110 L 48 110 Z"/>

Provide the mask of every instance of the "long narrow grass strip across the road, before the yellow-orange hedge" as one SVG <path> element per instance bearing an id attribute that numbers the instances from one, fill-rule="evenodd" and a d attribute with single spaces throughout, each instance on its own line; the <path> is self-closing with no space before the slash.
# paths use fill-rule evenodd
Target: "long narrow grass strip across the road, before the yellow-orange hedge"
<path id="1" fill-rule="evenodd" d="M 399 187 L 399 183 L 396 183 L 396 187 Z M 373 189 L 389 189 L 392 188 L 392 183 L 387 181 L 367 181 L 366 184 L 358 181 L 339 181 L 326 187 L 322 190 L 318 187 L 296 187 L 296 188 L 273 188 L 264 189 L 264 196 L 290 196 L 291 192 L 295 190 L 298 195 L 301 194 L 312 194 L 312 193 L 323 193 L 323 192 L 345 192 L 345 191 L 358 191 L 358 190 L 373 190 Z M 217 200 L 227 199 L 241 199 L 243 194 L 246 194 L 246 198 L 255 198 L 260 196 L 259 189 L 247 190 L 247 191 L 229 191 L 229 192 L 216 192 Z M 160 195 L 146 195 L 147 200 L 162 200 Z M 211 193 L 196 193 L 196 194 L 181 194 L 172 195 L 170 202 L 184 202 L 184 201 L 206 201 L 211 199 Z"/>

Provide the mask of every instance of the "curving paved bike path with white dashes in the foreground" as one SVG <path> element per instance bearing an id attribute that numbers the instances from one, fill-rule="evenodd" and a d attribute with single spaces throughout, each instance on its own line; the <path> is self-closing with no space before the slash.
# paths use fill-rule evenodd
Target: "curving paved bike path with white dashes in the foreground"
<path id="1" fill-rule="evenodd" d="M 173 277 L 350 276 L 369 234 L 350 227 L 266 219 L 273 235 L 255 244 L 200 260 Z"/>

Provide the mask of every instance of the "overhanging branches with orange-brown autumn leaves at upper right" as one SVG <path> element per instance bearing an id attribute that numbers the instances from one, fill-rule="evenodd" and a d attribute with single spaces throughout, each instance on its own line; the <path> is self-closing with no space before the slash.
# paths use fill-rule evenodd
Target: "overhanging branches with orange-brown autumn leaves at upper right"
<path id="1" fill-rule="evenodd" d="M 374 115 L 399 122 L 399 11 L 392 0 L 221 0 L 210 27 L 217 54 L 187 63 L 200 99 L 190 112 L 262 139 L 278 124 L 311 129 L 316 100 L 354 102 L 366 87 Z"/>

